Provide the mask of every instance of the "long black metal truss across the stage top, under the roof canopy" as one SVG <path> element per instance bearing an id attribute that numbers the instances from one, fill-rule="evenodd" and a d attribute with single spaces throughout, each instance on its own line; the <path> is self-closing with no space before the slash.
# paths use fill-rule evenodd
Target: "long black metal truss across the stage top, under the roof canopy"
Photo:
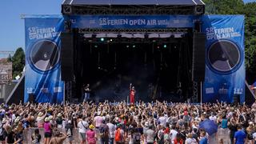
<path id="1" fill-rule="evenodd" d="M 199 10 L 199 11 L 198 11 Z M 70 6 L 62 5 L 62 14 L 204 14 L 204 6 Z"/>

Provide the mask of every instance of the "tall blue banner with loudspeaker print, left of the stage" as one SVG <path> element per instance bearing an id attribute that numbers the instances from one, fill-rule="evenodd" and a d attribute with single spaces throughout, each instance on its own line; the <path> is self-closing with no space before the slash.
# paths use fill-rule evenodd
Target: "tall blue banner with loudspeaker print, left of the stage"
<path id="1" fill-rule="evenodd" d="M 24 102 L 62 103 L 63 82 L 60 71 L 61 15 L 25 17 L 26 75 Z"/>

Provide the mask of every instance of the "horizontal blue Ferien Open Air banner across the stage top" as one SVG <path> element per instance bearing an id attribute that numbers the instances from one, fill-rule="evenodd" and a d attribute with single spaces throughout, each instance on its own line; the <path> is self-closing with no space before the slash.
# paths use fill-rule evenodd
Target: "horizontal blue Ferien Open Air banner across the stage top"
<path id="1" fill-rule="evenodd" d="M 74 28 L 150 29 L 194 26 L 193 15 L 71 15 Z"/>

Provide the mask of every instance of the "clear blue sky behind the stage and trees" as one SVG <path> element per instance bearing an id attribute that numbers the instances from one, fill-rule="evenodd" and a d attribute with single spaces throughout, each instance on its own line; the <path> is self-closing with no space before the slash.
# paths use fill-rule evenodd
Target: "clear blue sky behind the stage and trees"
<path id="1" fill-rule="evenodd" d="M 21 14 L 61 14 L 61 4 L 62 0 L 1 0 L 0 50 L 25 47 L 24 20 L 20 18 Z M 6 56 L 0 54 L 0 58 Z"/>

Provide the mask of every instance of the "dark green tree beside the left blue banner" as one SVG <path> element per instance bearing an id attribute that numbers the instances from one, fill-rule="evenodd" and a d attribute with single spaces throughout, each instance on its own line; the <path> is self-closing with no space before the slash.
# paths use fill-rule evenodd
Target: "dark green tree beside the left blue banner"
<path id="1" fill-rule="evenodd" d="M 17 75 L 21 76 L 25 66 L 25 54 L 21 47 L 15 51 L 14 56 L 11 58 L 11 62 L 13 62 L 13 78 Z"/>

